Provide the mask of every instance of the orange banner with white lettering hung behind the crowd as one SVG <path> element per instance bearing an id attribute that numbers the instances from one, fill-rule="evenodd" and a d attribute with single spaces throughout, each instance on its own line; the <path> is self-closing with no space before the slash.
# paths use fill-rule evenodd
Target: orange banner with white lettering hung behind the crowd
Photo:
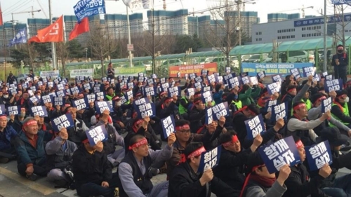
<path id="1" fill-rule="evenodd" d="M 192 73 L 195 73 L 195 74 L 197 74 L 197 76 L 200 76 L 201 69 L 208 70 L 209 74 L 213 74 L 213 72 L 218 72 L 217 63 L 194 64 L 194 65 L 183 65 L 183 66 L 169 67 L 169 76 L 170 77 L 177 77 L 178 72 L 180 72 L 181 77 L 184 77 L 185 74 L 192 74 Z"/>

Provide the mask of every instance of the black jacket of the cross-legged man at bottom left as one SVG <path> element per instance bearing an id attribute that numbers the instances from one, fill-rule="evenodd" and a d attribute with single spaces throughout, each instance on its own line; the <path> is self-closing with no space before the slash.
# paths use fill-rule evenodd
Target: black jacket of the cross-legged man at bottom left
<path id="1" fill-rule="evenodd" d="M 107 160 L 105 152 L 94 151 L 93 154 L 89 154 L 83 145 L 74 151 L 72 170 L 77 188 L 86 183 L 110 183 L 112 179 L 111 163 Z"/>

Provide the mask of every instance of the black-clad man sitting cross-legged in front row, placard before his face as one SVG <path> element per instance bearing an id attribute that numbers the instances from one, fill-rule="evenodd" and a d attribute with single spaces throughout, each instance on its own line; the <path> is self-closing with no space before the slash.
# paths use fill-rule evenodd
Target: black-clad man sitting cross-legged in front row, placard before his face
<path id="1" fill-rule="evenodd" d="M 111 163 L 103 151 L 102 142 L 91 146 L 86 133 L 81 135 L 81 145 L 72 156 L 74 186 L 81 197 L 114 196 L 117 176 L 112 176 Z"/>

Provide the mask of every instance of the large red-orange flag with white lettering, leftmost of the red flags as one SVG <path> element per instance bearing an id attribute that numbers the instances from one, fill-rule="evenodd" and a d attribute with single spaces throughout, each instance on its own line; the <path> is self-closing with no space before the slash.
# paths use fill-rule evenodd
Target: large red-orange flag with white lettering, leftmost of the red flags
<path id="1" fill-rule="evenodd" d="M 53 24 L 39 29 L 37 36 L 33 36 L 28 42 L 62 42 L 63 41 L 63 15 Z"/>

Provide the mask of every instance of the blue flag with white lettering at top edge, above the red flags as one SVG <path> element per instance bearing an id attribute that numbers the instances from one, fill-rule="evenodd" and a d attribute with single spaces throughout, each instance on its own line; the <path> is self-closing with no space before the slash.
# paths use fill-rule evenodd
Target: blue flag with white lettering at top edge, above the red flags
<path id="1" fill-rule="evenodd" d="M 73 8 L 78 22 L 88 16 L 106 13 L 104 0 L 81 0 Z"/>

